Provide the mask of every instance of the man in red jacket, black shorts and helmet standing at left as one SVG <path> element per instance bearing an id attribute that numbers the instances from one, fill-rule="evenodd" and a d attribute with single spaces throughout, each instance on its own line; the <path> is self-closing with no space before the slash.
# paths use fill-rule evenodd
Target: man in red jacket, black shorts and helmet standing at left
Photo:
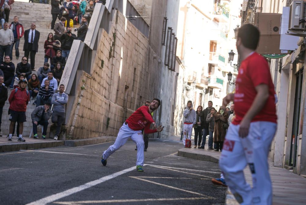
<path id="1" fill-rule="evenodd" d="M 11 121 L 9 124 L 9 141 L 12 141 L 12 133 L 13 128 L 15 126 L 15 122 L 19 123 L 19 137 L 18 141 L 25 142 L 25 139 L 22 137 L 23 132 L 23 123 L 27 121 L 25 112 L 27 111 L 27 105 L 30 101 L 30 94 L 26 90 L 28 82 L 25 79 L 19 81 L 16 89 L 12 90 L 9 95 L 9 111 L 11 116 L 9 120 Z"/>

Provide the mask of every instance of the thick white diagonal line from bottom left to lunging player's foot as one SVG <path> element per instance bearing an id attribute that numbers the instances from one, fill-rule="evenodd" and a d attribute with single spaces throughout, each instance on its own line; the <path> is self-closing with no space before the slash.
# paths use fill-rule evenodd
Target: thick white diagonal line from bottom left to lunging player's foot
<path id="1" fill-rule="evenodd" d="M 80 192 L 80 191 L 82 191 L 82 190 L 84 190 L 84 189 L 88 189 L 88 188 L 90 188 L 90 187 L 92 187 L 92 186 L 95 186 L 95 185 L 97 185 L 97 184 L 100 184 L 100 183 L 102 183 L 102 182 L 106 182 L 107 180 L 113 179 L 113 178 L 115 178 L 115 177 L 118 177 L 118 176 L 120 176 L 120 175 L 122 175 L 122 174 L 125 174 L 125 173 L 127 173 L 127 172 L 129 172 L 129 171 L 132 171 L 132 170 L 135 170 L 135 166 L 130 167 L 130 168 L 125 169 L 125 170 L 122 170 L 122 171 L 118 171 L 118 172 L 116 172 L 116 173 L 114 173 L 114 174 L 110 174 L 110 175 L 108 175 L 108 176 L 99 178 L 99 179 L 97 179 L 97 180 L 88 182 L 88 183 L 86 183 L 86 184 L 83 184 L 83 185 L 74 187 L 74 188 L 72 188 L 72 189 L 68 189 L 68 190 L 66 190 L 66 191 L 63 191 L 63 192 L 60 192 L 60 193 L 57 193 L 57 194 L 53 194 L 53 195 L 51 195 L 51 196 L 47 196 L 47 197 L 45 197 L 45 198 L 42 198 L 42 199 L 37 200 L 37 201 L 34 201 L 34 202 L 32 202 L 32 203 L 28 203 L 28 204 L 26 204 L 26 205 L 42 205 L 42 204 L 45 205 L 45 204 L 47 204 L 47 203 L 51 203 L 51 202 L 54 202 L 54 201 L 56 201 L 56 200 L 59 200 L 59 199 L 65 197 L 65 196 L 69 196 L 69 195 L 71 195 L 71 194 L 75 194 L 76 192 Z"/>

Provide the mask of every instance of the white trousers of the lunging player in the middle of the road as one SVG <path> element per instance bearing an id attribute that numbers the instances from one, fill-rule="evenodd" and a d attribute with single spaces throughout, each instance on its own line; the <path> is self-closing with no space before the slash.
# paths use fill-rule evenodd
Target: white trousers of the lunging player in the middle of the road
<path id="1" fill-rule="evenodd" d="M 137 161 L 136 165 L 144 166 L 144 139 L 141 130 L 134 131 L 125 123 L 119 129 L 115 143 L 103 152 L 103 159 L 106 160 L 111 154 L 122 147 L 128 138 L 131 138 L 137 145 Z"/>

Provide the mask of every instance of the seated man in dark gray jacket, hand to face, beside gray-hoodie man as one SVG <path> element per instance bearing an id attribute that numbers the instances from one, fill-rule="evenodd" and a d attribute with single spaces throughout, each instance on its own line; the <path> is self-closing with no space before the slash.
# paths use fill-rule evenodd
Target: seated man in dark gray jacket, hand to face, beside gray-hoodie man
<path id="1" fill-rule="evenodd" d="M 33 135 L 35 139 L 38 139 L 37 135 L 37 125 L 43 125 L 43 135 L 42 139 L 46 139 L 47 128 L 48 128 L 48 120 L 51 117 L 51 103 L 46 102 L 45 105 L 37 106 L 35 110 L 31 114 L 32 123 L 33 123 Z"/>

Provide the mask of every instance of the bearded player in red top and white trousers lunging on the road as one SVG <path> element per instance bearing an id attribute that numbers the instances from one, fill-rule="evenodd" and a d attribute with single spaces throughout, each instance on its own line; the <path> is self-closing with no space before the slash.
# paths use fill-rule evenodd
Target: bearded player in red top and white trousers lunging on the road
<path id="1" fill-rule="evenodd" d="M 141 106 L 128 119 L 125 120 L 119 129 L 115 143 L 103 152 L 101 160 L 103 166 L 106 166 L 107 158 L 122 147 L 128 138 L 131 138 L 137 146 L 136 170 L 144 171 L 142 168 L 142 166 L 144 166 L 144 139 L 141 132 L 143 129 L 145 134 L 162 131 L 162 125 L 156 128 L 156 124 L 151 116 L 151 113 L 159 106 L 160 100 L 154 98 L 150 106 Z M 153 130 L 150 129 L 151 124 L 153 125 Z"/>

